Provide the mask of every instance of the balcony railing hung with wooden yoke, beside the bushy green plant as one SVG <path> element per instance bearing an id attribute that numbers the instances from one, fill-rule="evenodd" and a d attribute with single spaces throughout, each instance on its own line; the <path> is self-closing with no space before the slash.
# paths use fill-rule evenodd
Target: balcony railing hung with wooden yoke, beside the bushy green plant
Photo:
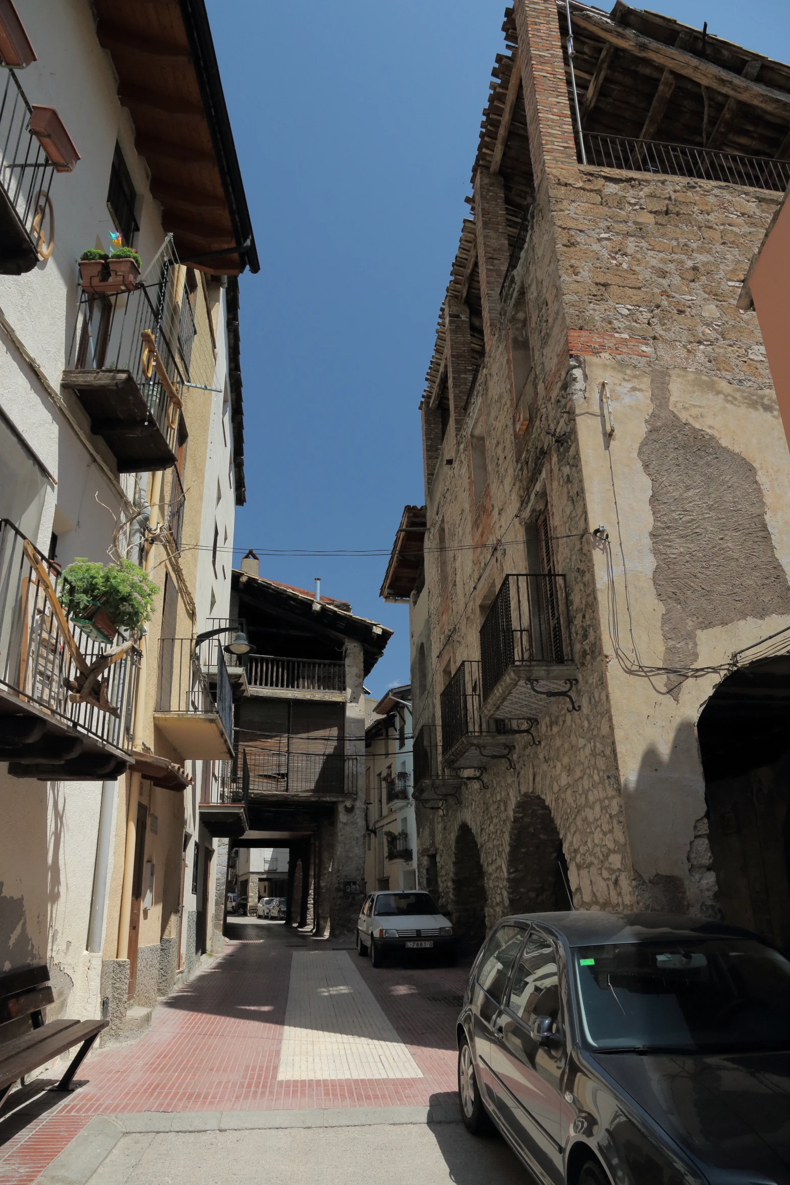
<path id="1" fill-rule="evenodd" d="M 27 550 L 27 555 L 25 553 Z M 128 651 L 101 675 L 101 690 L 110 711 L 72 698 L 81 672 L 69 651 L 57 613 L 45 594 L 40 572 L 31 563 L 36 555 L 56 597 L 64 587 L 56 564 L 25 538 L 13 523 L 0 520 L 0 696 L 32 704 L 56 722 L 77 729 L 118 750 L 131 749 L 134 707 L 140 674 L 140 652 Z M 77 648 L 90 667 L 107 646 L 69 623 Z"/>

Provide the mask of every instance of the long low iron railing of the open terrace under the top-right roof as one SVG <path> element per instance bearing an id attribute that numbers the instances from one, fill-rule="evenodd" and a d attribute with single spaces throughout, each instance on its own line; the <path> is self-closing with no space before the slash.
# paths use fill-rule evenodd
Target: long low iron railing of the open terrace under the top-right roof
<path id="1" fill-rule="evenodd" d="M 669 177 L 693 177 L 699 181 L 724 181 L 750 188 L 784 193 L 790 182 L 790 161 L 766 156 L 743 156 L 715 148 L 669 145 L 656 140 L 632 140 L 584 133 L 587 165 L 621 168 L 637 173 L 663 173 Z M 577 154 L 579 161 L 582 154 Z"/>

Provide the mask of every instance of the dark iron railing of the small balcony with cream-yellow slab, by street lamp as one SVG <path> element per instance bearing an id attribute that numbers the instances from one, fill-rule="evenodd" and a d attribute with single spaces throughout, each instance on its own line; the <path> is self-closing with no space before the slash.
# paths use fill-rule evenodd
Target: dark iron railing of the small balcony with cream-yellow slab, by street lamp
<path id="1" fill-rule="evenodd" d="M 233 694 L 225 656 L 217 649 L 217 675 L 212 691 L 191 638 L 162 638 L 159 642 L 158 712 L 219 717 L 229 742 L 233 739 Z"/>

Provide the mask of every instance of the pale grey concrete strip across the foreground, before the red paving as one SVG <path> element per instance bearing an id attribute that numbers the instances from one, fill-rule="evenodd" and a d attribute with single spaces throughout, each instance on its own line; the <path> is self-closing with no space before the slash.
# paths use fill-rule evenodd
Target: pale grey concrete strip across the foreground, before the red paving
<path id="1" fill-rule="evenodd" d="M 39 1183 L 370 1185 L 386 1174 L 404 1185 L 522 1185 L 501 1140 L 442 1120 L 415 1107 L 102 1116 Z"/>

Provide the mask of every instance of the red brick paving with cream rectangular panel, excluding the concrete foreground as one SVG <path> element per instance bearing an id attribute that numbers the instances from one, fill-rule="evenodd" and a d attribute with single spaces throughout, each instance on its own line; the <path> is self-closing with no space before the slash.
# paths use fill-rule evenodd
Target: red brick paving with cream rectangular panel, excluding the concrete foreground
<path id="1" fill-rule="evenodd" d="M 95 1052 L 73 1094 L 41 1095 L 39 1080 L 20 1093 L 38 1095 L 23 1110 L 14 1095 L 7 1100 L 0 1185 L 34 1181 L 99 1115 L 192 1115 L 198 1127 L 206 1116 L 226 1125 L 251 1113 L 255 1126 L 261 1113 L 274 1120 L 341 1108 L 430 1107 L 455 1117 L 465 968 L 374 971 L 354 949 L 277 923 L 231 929 L 242 941 L 229 941 L 207 971 L 161 1001 L 147 1033 Z"/>

